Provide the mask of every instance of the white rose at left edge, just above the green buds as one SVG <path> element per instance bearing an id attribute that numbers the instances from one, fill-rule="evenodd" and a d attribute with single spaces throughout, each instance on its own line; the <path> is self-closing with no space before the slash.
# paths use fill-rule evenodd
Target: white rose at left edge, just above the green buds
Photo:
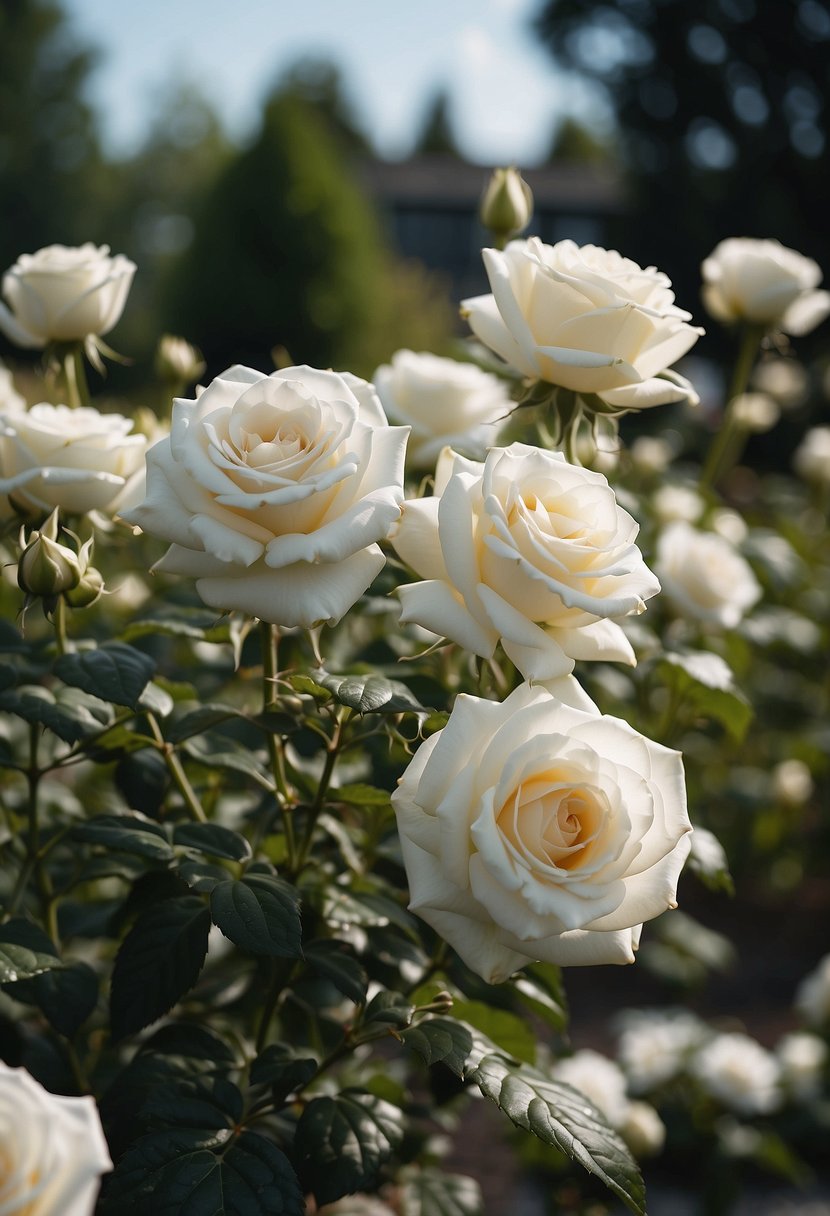
<path id="1" fill-rule="evenodd" d="M 28 514 L 113 514 L 143 479 L 143 435 L 132 422 L 91 406 L 43 402 L 0 415 L 0 492 Z"/>

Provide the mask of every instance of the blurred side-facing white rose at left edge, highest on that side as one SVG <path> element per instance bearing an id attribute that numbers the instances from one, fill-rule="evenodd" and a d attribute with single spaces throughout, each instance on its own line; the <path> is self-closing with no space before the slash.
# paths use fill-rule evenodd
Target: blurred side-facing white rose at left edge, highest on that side
<path id="1" fill-rule="evenodd" d="M 106 244 L 50 244 L 24 253 L 2 276 L 0 330 L 18 347 L 108 333 L 132 283 L 135 263 Z"/>

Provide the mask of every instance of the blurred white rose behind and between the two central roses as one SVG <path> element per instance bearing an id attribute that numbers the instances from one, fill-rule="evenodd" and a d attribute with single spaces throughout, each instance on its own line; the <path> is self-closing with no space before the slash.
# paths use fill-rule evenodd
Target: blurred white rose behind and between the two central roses
<path id="1" fill-rule="evenodd" d="M 427 353 L 399 350 L 373 381 L 386 417 L 412 428 L 412 468 L 431 469 L 447 445 L 481 457 L 514 407 L 497 376 Z"/>

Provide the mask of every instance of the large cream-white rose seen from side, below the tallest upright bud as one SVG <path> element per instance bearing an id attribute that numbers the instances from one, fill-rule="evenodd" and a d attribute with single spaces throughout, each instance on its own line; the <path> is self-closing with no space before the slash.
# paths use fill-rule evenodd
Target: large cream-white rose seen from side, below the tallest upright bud
<path id="1" fill-rule="evenodd" d="M 512 241 L 484 250 L 492 295 L 464 300 L 473 333 L 523 376 L 619 410 L 696 400 L 664 372 L 702 330 L 674 304 L 666 275 L 612 249 L 572 241 Z"/>

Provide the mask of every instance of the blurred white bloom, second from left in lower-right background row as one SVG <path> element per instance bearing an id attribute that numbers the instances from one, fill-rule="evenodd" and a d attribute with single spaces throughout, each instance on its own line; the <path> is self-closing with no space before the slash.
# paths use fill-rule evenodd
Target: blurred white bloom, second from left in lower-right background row
<path id="1" fill-rule="evenodd" d="M 698 835 L 695 831 L 694 837 Z M 702 1042 L 706 1028 L 685 1009 L 628 1010 L 621 1019 L 617 1059 L 633 1093 L 647 1093 L 678 1076 Z"/>

